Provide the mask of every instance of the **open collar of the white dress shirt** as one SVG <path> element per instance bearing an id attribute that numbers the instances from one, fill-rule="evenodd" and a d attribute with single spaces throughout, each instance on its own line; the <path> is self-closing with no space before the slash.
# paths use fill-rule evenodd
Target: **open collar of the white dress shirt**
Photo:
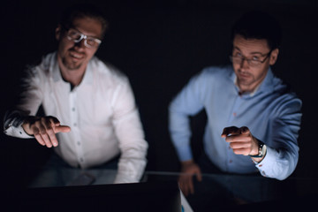
<path id="1" fill-rule="evenodd" d="M 84 78 L 82 79 L 82 81 L 80 82 L 79 85 L 81 85 L 81 84 L 89 84 L 89 85 L 93 84 L 93 72 L 92 72 L 93 64 L 91 62 L 92 59 L 88 62 L 87 69 L 84 73 Z M 53 61 L 51 61 L 51 63 L 50 63 L 51 64 L 50 71 L 52 72 L 52 77 L 53 77 L 54 81 L 57 82 L 57 81 L 63 80 L 60 69 L 58 67 L 58 63 L 57 63 L 57 53 L 55 54 L 54 57 L 52 57 L 52 60 Z"/>

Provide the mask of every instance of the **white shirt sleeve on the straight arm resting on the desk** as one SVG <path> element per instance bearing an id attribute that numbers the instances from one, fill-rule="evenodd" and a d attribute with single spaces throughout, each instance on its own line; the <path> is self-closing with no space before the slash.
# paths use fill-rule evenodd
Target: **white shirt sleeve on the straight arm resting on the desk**
<path id="1" fill-rule="evenodd" d="M 111 105 L 121 151 L 114 183 L 139 182 L 147 164 L 148 142 L 144 139 L 139 111 L 128 79 L 117 87 Z"/>

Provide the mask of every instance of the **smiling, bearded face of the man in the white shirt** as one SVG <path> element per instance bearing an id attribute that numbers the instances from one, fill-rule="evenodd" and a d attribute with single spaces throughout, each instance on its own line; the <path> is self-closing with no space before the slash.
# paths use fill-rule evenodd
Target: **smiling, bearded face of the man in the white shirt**
<path id="1" fill-rule="evenodd" d="M 77 32 L 85 34 L 89 38 L 101 39 L 102 24 L 96 19 L 80 18 L 74 19 L 72 28 L 62 33 L 61 27 L 57 27 L 56 37 L 58 43 L 57 57 L 63 66 L 69 71 L 85 69 L 89 60 L 95 55 L 98 45 L 88 48 L 85 39 L 80 42 L 73 42 L 67 34 Z M 60 64 L 61 65 L 61 64 Z"/>

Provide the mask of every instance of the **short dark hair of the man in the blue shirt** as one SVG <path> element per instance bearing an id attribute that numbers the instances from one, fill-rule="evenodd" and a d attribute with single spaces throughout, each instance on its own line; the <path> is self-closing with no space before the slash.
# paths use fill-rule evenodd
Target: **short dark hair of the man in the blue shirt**
<path id="1" fill-rule="evenodd" d="M 279 22 L 264 11 L 244 13 L 232 27 L 231 40 L 238 34 L 245 39 L 265 39 L 270 50 L 279 48 L 282 36 Z"/>

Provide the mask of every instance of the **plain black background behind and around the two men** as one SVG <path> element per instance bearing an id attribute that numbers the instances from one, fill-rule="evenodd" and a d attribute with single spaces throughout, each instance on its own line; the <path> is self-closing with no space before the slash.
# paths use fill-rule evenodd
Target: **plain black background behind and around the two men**
<path id="1" fill-rule="evenodd" d="M 65 6 L 85 1 L 4 1 L 1 4 L 1 118 L 18 95 L 27 64 L 56 49 L 55 28 Z M 129 77 L 149 143 L 148 170 L 178 171 L 167 129 L 168 104 L 193 74 L 208 65 L 228 64 L 231 24 L 250 9 L 269 11 L 283 28 L 276 76 L 303 101 L 297 178 L 318 178 L 317 145 L 317 1 L 89 1 L 107 14 L 110 29 L 97 57 Z M 150 3 L 151 2 L 151 3 Z M 204 114 L 193 119 L 202 132 Z M 1 174 L 24 185 L 50 151 L 35 140 L 1 133 Z M 199 145 L 200 148 L 200 145 Z"/>

